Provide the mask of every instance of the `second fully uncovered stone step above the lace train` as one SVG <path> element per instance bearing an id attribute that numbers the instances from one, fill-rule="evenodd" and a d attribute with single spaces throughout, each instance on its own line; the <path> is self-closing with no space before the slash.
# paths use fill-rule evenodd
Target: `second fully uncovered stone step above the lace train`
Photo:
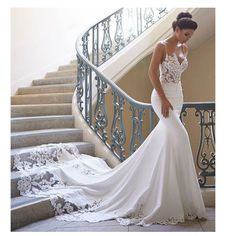
<path id="1" fill-rule="evenodd" d="M 61 115 L 11 118 L 11 132 L 57 128 L 74 128 L 74 116 Z"/>

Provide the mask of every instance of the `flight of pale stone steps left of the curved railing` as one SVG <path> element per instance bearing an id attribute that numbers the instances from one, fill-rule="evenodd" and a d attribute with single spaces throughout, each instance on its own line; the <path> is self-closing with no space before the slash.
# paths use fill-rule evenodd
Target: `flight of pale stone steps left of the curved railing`
<path id="1" fill-rule="evenodd" d="M 74 128 L 72 96 L 76 85 L 76 61 L 33 80 L 11 97 L 11 227 L 12 230 L 54 216 L 49 198 L 20 196 L 19 172 L 13 168 L 30 149 L 48 143 L 74 143 L 81 153 L 94 156 L 95 146 L 83 142 L 83 130 Z M 23 153 L 23 154 L 22 154 Z"/>

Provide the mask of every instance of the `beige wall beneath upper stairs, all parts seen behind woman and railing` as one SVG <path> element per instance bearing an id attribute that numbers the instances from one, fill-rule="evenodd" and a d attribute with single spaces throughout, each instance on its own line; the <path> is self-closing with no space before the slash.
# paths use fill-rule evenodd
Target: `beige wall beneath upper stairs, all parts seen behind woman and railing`
<path id="1" fill-rule="evenodd" d="M 117 85 L 129 96 L 140 102 L 150 103 L 153 87 L 147 72 L 151 56 L 152 55 L 149 55 L 140 61 L 117 82 Z M 189 67 L 182 74 L 184 101 L 215 101 L 215 36 L 209 38 L 195 50 L 190 50 L 188 61 Z M 109 91 L 106 98 L 107 115 L 109 117 L 113 117 L 112 99 L 113 96 Z M 127 103 L 124 105 L 124 114 L 126 114 L 124 116 L 124 123 L 127 131 L 125 149 L 127 150 L 126 157 L 128 157 L 132 123 L 130 120 L 131 111 L 129 111 Z M 155 125 L 157 124 L 157 121 L 158 118 L 155 115 Z M 195 116 L 194 110 L 188 110 L 188 115 L 184 118 L 184 122 L 189 133 L 193 156 L 196 157 L 200 141 L 199 117 Z M 111 124 L 108 124 L 108 127 L 108 130 L 110 130 Z M 149 133 L 149 115 L 145 114 L 143 118 L 144 138 L 146 138 Z M 108 137 L 110 138 L 110 134 L 108 134 Z M 198 172 L 197 166 L 196 169 Z"/>

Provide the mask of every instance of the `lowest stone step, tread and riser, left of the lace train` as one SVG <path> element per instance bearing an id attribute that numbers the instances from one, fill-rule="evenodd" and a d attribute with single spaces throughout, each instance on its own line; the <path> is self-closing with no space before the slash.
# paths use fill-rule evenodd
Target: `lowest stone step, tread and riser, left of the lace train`
<path id="1" fill-rule="evenodd" d="M 11 199 L 11 230 L 55 216 L 49 198 L 16 197 Z"/>

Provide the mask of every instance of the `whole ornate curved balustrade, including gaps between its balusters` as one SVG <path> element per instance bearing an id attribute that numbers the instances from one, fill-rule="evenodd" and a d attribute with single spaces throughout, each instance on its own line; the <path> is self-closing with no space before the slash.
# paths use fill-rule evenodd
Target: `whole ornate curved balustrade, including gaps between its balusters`
<path id="1" fill-rule="evenodd" d="M 121 8 L 89 28 L 76 42 L 79 111 L 90 128 L 121 162 L 145 140 L 143 125 L 148 125 L 149 131 L 152 131 L 155 112 L 150 103 L 134 100 L 97 67 L 166 14 L 166 8 Z M 214 187 L 214 184 L 206 183 L 207 178 L 215 176 L 215 103 L 184 103 L 181 121 L 183 116 L 187 116 L 187 109 L 195 109 L 196 116 L 200 116 L 201 138 L 196 158 L 200 169 L 199 184 L 201 187 Z M 127 120 L 129 125 L 125 124 Z M 144 123 L 144 120 L 147 121 Z M 127 130 L 126 127 L 130 126 L 131 130 Z M 209 145 L 212 151 L 207 155 L 206 148 L 210 150 Z"/>

